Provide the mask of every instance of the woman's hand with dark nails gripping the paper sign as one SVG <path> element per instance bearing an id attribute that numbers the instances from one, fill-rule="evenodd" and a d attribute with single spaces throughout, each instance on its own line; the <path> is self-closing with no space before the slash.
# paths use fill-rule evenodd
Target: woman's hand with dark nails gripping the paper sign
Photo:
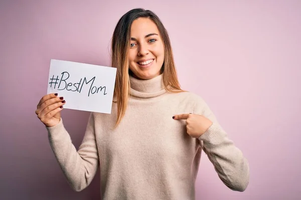
<path id="1" fill-rule="evenodd" d="M 41 98 L 36 114 L 47 127 L 55 126 L 61 120 L 61 110 L 65 103 L 64 98 L 57 93 L 47 94 Z"/>

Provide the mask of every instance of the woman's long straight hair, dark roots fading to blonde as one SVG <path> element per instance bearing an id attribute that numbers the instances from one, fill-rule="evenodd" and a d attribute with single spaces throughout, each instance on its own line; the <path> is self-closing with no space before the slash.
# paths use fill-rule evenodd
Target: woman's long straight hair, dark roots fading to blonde
<path id="1" fill-rule="evenodd" d="M 114 29 L 111 43 L 111 66 L 117 68 L 114 88 L 114 98 L 116 99 L 117 103 L 117 119 L 115 122 L 115 127 L 120 123 L 125 114 L 128 98 L 130 95 L 130 70 L 128 66 L 130 27 L 132 22 L 139 17 L 152 19 L 157 24 L 157 27 L 163 39 L 165 57 L 161 68 L 161 73 L 163 73 L 165 89 L 170 92 L 183 91 L 180 87 L 180 83 L 177 77 L 170 38 L 160 18 L 154 12 L 150 10 L 144 10 L 142 8 L 135 8 L 128 11 L 119 19 Z"/>

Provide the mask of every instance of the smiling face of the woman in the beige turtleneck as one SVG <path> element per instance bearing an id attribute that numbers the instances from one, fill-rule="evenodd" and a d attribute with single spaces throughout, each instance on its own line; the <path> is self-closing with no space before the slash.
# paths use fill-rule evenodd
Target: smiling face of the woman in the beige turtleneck
<path id="1" fill-rule="evenodd" d="M 164 62 L 164 44 L 155 22 L 140 17 L 130 29 L 129 68 L 139 79 L 160 75 Z"/>

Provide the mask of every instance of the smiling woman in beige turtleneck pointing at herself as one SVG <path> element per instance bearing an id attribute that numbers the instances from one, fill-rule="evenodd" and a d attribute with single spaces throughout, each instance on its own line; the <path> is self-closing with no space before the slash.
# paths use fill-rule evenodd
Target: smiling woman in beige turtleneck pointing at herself
<path id="1" fill-rule="evenodd" d="M 111 59 L 112 113 L 90 114 L 78 151 L 60 115 L 63 97 L 47 94 L 36 110 L 74 190 L 86 188 L 100 164 L 103 199 L 195 199 L 201 149 L 229 188 L 247 187 L 242 152 L 206 102 L 180 88 L 168 33 L 155 13 L 132 9 L 120 18 Z"/>

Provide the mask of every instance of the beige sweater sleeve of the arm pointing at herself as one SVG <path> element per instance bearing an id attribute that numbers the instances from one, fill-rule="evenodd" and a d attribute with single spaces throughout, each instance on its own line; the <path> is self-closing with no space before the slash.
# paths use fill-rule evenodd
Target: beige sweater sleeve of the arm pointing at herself
<path id="1" fill-rule="evenodd" d="M 199 140 L 218 176 L 230 189 L 244 191 L 249 183 L 249 164 L 242 151 L 235 146 L 207 103 L 200 97 L 195 113 L 202 114 L 213 122 Z"/>

